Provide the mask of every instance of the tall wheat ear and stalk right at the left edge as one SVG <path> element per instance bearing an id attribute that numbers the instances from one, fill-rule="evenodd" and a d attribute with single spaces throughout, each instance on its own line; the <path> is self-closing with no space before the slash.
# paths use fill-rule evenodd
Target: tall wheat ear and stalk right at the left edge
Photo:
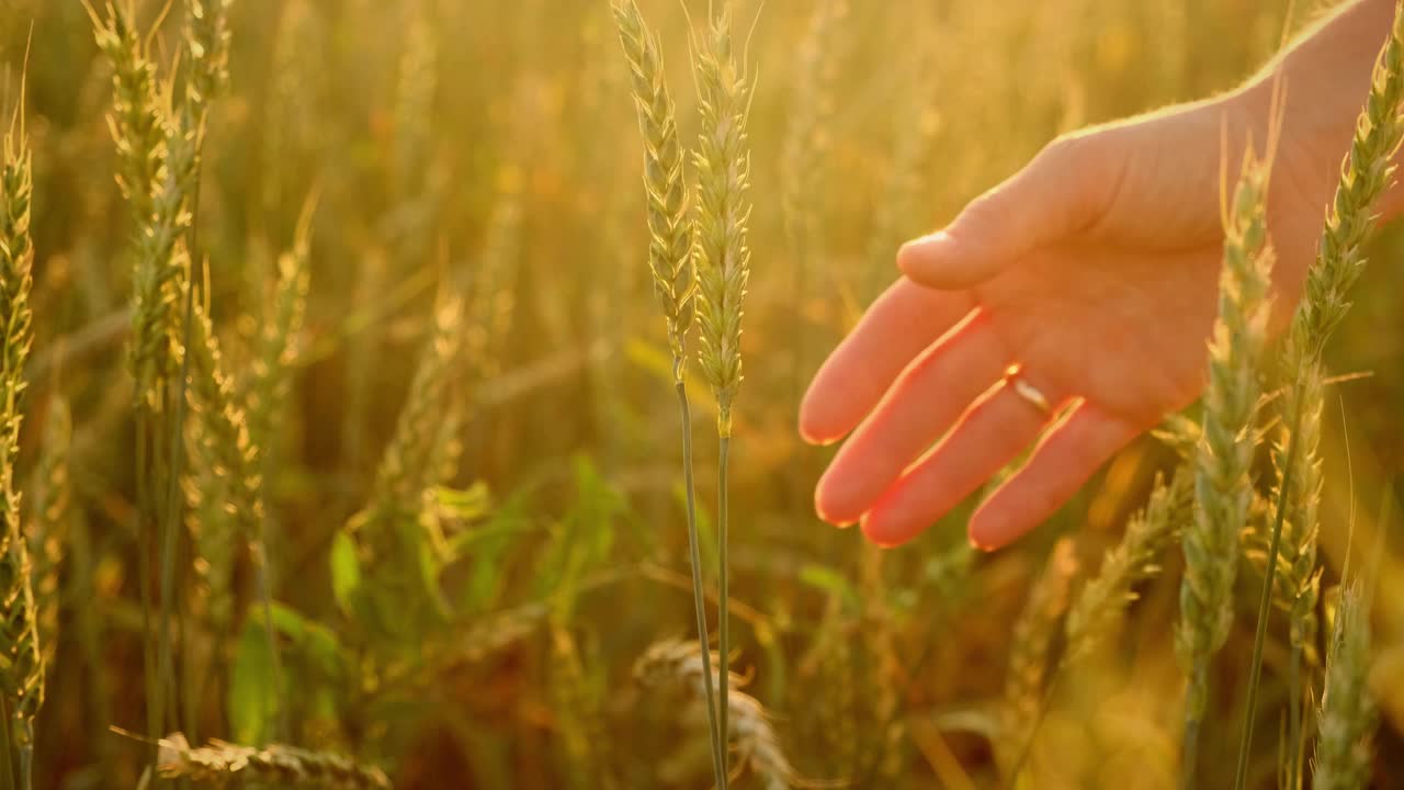
<path id="1" fill-rule="evenodd" d="M 21 104 L 24 101 L 21 96 Z M 34 343 L 29 292 L 34 285 L 34 245 L 29 208 L 34 197 L 32 153 L 15 108 L 4 135 L 0 163 L 0 692 L 10 721 L 6 749 L 20 756 L 20 776 L 29 786 L 34 753 L 34 717 L 44 704 L 44 654 L 34 609 L 34 590 L 15 461 L 20 455 L 20 423 L 24 419 L 24 365 Z"/>

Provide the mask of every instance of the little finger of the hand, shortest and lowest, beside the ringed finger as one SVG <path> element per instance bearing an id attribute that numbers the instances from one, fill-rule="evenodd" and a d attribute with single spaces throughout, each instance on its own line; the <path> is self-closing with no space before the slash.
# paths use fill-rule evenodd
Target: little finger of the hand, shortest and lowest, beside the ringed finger
<path id="1" fill-rule="evenodd" d="M 1002 548 L 1057 512 L 1141 429 L 1082 402 L 1039 441 L 1028 462 L 970 517 L 970 543 Z"/>

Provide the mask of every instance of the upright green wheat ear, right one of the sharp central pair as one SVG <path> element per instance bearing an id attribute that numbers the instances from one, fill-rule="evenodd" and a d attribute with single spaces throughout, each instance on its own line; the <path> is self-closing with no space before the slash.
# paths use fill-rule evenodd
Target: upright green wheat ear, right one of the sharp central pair
<path id="1" fill-rule="evenodd" d="M 750 84 L 731 53 L 731 8 L 724 7 L 696 55 L 702 134 L 695 163 L 698 212 L 698 323 L 702 374 L 717 401 L 717 433 L 731 436 L 731 405 L 741 387 L 741 315 L 751 277 L 747 247 L 751 155 L 746 134 Z"/>

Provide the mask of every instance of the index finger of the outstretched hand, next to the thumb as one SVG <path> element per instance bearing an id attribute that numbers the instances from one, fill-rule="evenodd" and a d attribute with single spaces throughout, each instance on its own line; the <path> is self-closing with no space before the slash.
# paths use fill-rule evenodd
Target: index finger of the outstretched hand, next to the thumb
<path id="1" fill-rule="evenodd" d="M 967 294 L 932 291 L 899 278 L 814 375 L 800 403 L 800 434 L 816 444 L 842 439 L 897 374 L 972 306 Z"/>

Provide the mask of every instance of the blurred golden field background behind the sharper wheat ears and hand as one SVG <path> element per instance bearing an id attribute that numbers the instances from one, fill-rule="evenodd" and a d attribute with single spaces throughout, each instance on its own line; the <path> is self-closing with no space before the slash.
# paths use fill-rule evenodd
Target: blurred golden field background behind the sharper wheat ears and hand
<path id="1" fill-rule="evenodd" d="M 143 30 L 161 6 L 138 3 Z M 687 6 L 705 20 L 705 3 Z M 733 634 L 793 786 L 994 786 L 1007 656 L 1032 579 L 1064 536 L 1081 576 L 1094 574 L 1174 461 L 1154 440 L 1137 443 L 1029 540 L 991 557 L 966 547 L 963 512 L 892 552 L 820 524 L 810 493 L 826 451 L 799 443 L 797 396 L 893 280 L 896 246 L 1060 132 L 1234 87 L 1325 6 L 737 3 L 743 27 L 757 20 L 758 83 Z M 682 138 L 695 139 L 684 3 L 640 7 L 663 37 Z M 178 18 L 180 3 L 153 34 L 163 79 Z M 608 3 L 236 0 L 230 27 L 230 87 L 208 121 L 195 218 L 230 370 L 247 364 L 274 261 L 314 201 L 310 291 L 264 481 L 281 666 L 257 649 L 265 626 L 244 561 L 233 581 L 243 626 L 213 635 L 220 658 L 206 685 L 183 680 L 181 728 L 192 742 L 354 755 L 397 787 L 708 786 L 701 720 L 633 673 L 650 644 L 695 628 L 642 142 Z M 147 752 L 108 725 L 146 727 L 124 353 L 133 228 L 114 181 L 111 66 L 88 13 L 77 0 L 0 0 L 10 104 L 31 35 L 37 340 L 21 472 L 37 468 L 59 396 L 73 413 L 72 548 L 37 776 L 42 787 L 132 786 Z M 1401 243 L 1393 231 L 1377 243 L 1330 356 L 1334 373 L 1367 375 L 1331 391 L 1327 586 L 1348 526 L 1355 548 L 1376 545 L 1376 514 L 1404 464 Z M 490 361 L 463 388 L 466 419 L 442 425 L 462 461 L 425 505 L 442 522 L 430 533 L 442 599 L 399 628 L 366 627 L 334 595 L 337 536 L 366 505 L 437 294 L 489 267 L 493 292 L 473 301 L 489 309 L 466 322 L 486 333 Z M 691 394 L 710 534 L 710 405 L 696 377 Z M 1375 786 L 1404 787 L 1397 529 L 1383 545 Z M 715 579 L 715 551 L 705 559 Z M 1029 755 L 1033 786 L 1174 786 L 1178 562 L 1171 551 L 1123 633 L 1060 686 Z M 1236 755 L 1261 585 L 1243 576 L 1203 765 Z M 184 569 L 180 579 L 195 583 Z M 1266 652 L 1262 787 L 1276 765 L 1283 640 L 1275 630 Z"/>

